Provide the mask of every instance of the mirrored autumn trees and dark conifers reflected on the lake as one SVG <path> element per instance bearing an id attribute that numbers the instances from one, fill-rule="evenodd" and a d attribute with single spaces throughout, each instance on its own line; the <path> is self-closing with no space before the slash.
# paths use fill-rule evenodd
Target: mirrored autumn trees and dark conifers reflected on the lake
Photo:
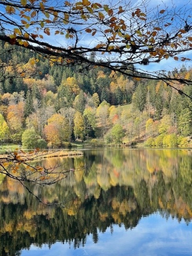
<path id="1" fill-rule="evenodd" d="M 94 150 L 81 158 L 46 159 L 42 164 L 56 162 L 74 169 L 86 163 L 87 168 L 70 172 L 53 186 L 29 188 L 43 202 L 64 202 L 65 208 L 38 203 L 20 183 L 1 177 L 0 255 L 19 255 L 32 244 L 51 246 L 56 241 L 78 248 L 90 234 L 97 243 L 99 232 L 114 233 L 116 225 L 127 232 L 139 229 L 143 217 L 154 212 L 191 225 L 191 151 Z"/>

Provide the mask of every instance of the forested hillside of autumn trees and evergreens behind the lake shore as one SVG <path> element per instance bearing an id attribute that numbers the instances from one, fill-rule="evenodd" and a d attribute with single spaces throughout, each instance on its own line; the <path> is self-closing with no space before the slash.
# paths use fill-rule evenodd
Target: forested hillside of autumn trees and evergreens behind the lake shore
<path id="1" fill-rule="evenodd" d="M 68 147 L 74 141 L 192 145 L 189 85 L 170 84 L 177 91 L 147 76 L 132 79 L 101 67 L 64 67 L 4 42 L 0 42 L 0 64 L 1 144 L 25 149 Z M 171 76 L 190 79 L 192 70 L 183 66 Z"/>

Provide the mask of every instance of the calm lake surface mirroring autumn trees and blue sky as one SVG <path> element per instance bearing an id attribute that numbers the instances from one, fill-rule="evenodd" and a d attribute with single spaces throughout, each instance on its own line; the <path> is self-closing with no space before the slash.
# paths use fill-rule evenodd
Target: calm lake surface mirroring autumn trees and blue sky
<path id="1" fill-rule="evenodd" d="M 1 256 L 192 256 L 192 151 L 85 150 L 61 182 L 0 179 Z"/>

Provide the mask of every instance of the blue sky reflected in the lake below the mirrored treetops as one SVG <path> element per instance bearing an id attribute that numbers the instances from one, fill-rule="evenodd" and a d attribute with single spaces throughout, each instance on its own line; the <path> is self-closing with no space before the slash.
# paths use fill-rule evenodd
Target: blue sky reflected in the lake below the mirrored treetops
<path id="1" fill-rule="evenodd" d="M 56 242 L 41 249 L 31 246 L 21 256 L 190 256 L 192 255 L 192 223 L 162 218 L 159 214 L 143 217 L 132 230 L 114 225 L 111 234 L 108 228 L 99 233 L 98 243 L 87 237 L 84 247 L 74 250 L 71 244 Z"/>

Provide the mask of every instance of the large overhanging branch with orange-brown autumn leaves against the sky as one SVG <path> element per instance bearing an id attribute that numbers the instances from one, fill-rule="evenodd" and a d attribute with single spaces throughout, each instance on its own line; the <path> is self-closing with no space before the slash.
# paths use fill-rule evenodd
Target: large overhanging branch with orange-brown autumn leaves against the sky
<path id="1" fill-rule="evenodd" d="M 100 65 L 132 77 L 189 83 L 163 71 L 146 72 L 143 65 L 173 58 L 190 60 L 189 6 L 150 8 L 121 0 L 102 4 L 89 0 L 0 1 L 0 40 L 31 49 L 62 65 Z M 95 58 L 90 58 L 94 54 Z M 137 69 L 136 69 L 136 68 Z"/>

